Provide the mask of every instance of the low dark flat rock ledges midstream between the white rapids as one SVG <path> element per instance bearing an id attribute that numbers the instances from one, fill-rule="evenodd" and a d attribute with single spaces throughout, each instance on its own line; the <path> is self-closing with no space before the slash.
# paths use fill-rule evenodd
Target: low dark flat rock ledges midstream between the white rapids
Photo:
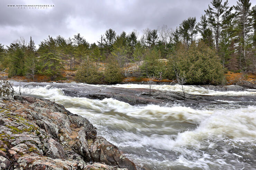
<path id="1" fill-rule="evenodd" d="M 158 104 L 181 103 L 183 105 L 198 106 L 201 105 L 222 105 L 228 104 L 228 101 L 239 102 L 239 105 L 256 105 L 256 96 L 208 96 L 208 95 L 192 95 L 173 91 L 151 90 L 143 88 L 119 88 L 119 87 L 100 87 L 88 84 L 72 84 L 72 83 L 28 83 L 25 86 L 47 86 L 47 88 L 60 88 L 66 96 L 86 97 L 90 99 L 113 98 L 131 105 L 138 104 Z M 204 88 L 219 91 L 238 91 L 244 89 L 240 86 L 212 86 L 205 85 Z M 243 103 L 241 103 L 243 102 Z"/>

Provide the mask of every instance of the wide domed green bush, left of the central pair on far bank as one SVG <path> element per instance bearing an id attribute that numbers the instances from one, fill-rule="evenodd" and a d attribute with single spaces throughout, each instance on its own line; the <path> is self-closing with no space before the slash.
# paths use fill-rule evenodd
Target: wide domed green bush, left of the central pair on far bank
<path id="1" fill-rule="evenodd" d="M 103 74 L 98 72 L 93 62 L 87 60 L 77 70 L 75 79 L 82 83 L 102 84 Z"/>

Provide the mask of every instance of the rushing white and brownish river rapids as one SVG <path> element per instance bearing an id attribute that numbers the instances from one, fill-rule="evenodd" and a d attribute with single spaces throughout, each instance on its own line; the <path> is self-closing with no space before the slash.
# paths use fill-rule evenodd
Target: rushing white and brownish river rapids
<path id="1" fill-rule="evenodd" d="M 101 85 L 102 86 L 102 85 Z M 147 88 L 144 85 L 115 85 Z M 179 85 L 154 85 L 181 91 Z M 92 100 L 65 96 L 62 89 L 23 87 L 26 94 L 53 100 L 88 118 L 98 135 L 118 146 L 145 169 L 256 169 L 256 107 L 211 105 L 131 106 L 114 99 Z M 190 94 L 255 95 L 256 91 L 215 92 L 185 86 Z"/>

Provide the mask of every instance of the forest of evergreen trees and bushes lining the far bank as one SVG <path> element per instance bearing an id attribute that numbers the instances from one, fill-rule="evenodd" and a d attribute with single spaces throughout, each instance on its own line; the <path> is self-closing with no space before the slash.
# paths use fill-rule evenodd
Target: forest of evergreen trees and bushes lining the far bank
<path id="1" fill-rule="evenodd" d="M 139 77 L 183 76 L 187 84 L 225 84 L 226 71 L 256 72 L 256 6 L 249 0 L 235 6 L 212 0 L 200 19 L 189 17 L 175 29 L 146 28 L 141 36 L 136 30 L 117 34 L 108 29 L 92 44 L 77 33 L 68 39 L 49 35 L 38 48 L 33 37 L 4 45 L 0 71 L 31 81 L 37 74 L 57 80 L 63 70 L 77 70 L 79 82 L 115 84 L 126 76 L 127 63 L 136 63 Z"/>

